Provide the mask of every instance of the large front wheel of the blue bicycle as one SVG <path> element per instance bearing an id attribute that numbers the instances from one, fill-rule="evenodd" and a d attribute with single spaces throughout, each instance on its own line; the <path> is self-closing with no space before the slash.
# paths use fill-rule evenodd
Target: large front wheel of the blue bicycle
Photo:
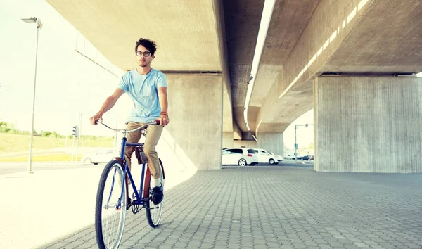
<path id="1" fill-rule="evenodd" d="M 118 248 L 122 240 L 127 204 L 124 183 L 120 162 L 117 160 L 108 162 L 98 184 L 95 206 L 96 241 L 101 249 Z"/>

